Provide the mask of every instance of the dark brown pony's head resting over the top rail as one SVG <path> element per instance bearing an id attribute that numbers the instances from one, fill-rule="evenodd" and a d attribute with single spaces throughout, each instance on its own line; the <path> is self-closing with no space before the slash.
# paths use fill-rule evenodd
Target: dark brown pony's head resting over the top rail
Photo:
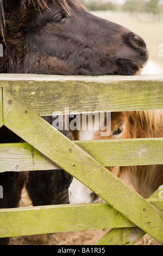
<path id="1" fill-rule="evenodd" d="M 76 0 L 1 2 L 1 72 L 134 75 L 147 60 L 139 35 Z"/>

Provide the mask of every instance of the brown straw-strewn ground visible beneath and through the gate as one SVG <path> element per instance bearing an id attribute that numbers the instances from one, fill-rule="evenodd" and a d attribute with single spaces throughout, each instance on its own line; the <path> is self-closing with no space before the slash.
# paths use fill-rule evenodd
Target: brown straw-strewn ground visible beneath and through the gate
<path id="1" fill-rule="evenodd" d="M 21 207 L 31 206 L 27 191 L 22 192 Z M 9 245 L 93 245 L 109 229 L 73 231 L 34 236 L 12 237 Z M 136 245 L 160 245 L 151 236 L 145 235 Z"/>

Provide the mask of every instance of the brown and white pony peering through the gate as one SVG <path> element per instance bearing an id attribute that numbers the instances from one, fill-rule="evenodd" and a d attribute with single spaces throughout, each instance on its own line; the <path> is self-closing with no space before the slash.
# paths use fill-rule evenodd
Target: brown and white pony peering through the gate
<path id="1" fill-rule="evenodd" d="M 154 71 L 152 71 L 154 70 Z M 163 74 L 163 69 L 152 62 L 147 64 L 143 74 Z M 85 125 L 86 127 L 86 125 Z M 85 128 L 84 127 L 84 128 Z M 92 131 L 71 131 L 74 140 L 122 139 L 122 138 L 160 138 L 163 137 L 163 110 L 130 111 L 111 113 L 111 132 L 102 136 L 103 129 Z M 118 178 L 133 188 L 142 197 L 149 197 L 163 184 L 163 165 L 106 167 Z M 69 187 L 70 203 L 99 202 L 102 199 L 92 193 L 77 179 L 73 178 Z"/>

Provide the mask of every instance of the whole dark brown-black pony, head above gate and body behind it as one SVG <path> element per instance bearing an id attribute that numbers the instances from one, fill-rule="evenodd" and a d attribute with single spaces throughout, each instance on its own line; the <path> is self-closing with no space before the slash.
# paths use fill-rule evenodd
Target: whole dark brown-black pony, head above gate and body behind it
<path id="1" fill-rule="evenodd" d="M 140 36 L 90 14 L 77 0 L 2 0 L 0 31 L 1 73 L 134 75 L 148 59 Z M 51 117 L 46 120 L 52 123 Z M 18 141 L 1 127 L 0 143 Z M 58 204 L 68 181 L 70 175 L 61 170 L 1 173 L 0 208 L 17 207 L 27 182 L 34 205 Z"/>

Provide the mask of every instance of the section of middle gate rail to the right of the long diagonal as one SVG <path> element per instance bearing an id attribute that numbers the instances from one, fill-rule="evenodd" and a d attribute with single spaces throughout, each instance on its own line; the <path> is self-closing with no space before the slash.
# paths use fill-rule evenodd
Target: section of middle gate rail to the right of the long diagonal
<path id="1" fill-rule="evenodd" d="M 163 138 L 75 141 L 103 166 L 163 164 Z"/>

